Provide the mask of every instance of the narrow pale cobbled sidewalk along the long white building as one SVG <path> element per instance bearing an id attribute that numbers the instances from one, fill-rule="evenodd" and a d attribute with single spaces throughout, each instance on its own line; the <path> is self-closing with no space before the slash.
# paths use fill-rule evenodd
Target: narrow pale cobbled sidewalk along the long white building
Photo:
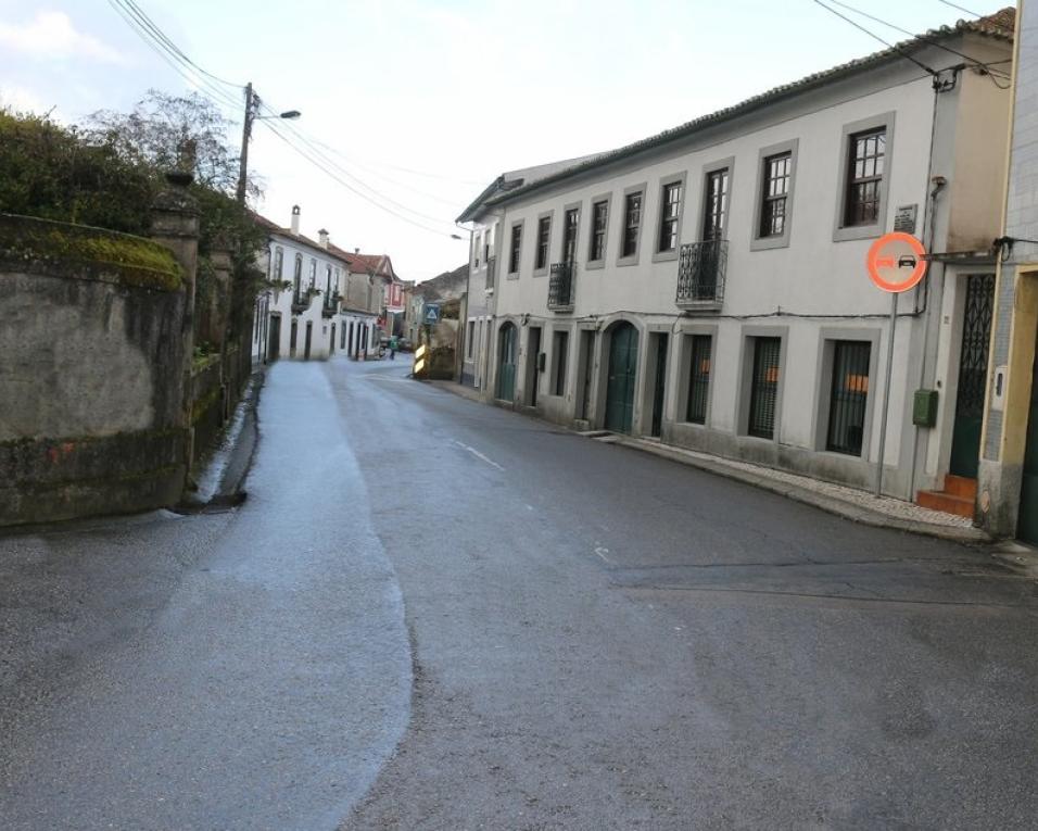
<path id="1" fill-rule="evenodd" d="M 479 390 L 471 387 L 463 387 L 455 381 L 426 382 L 470 401 L 479 401 Z M 602 430 L 584 435 L 591 439 L 605 440 L 609 443 L 653 453 L 672 462 L 698 467 L 700 470 L 708 470 L 718 476 L 725 476 L 729 479 L 737 479 L 747 484 L 788 496 L 797 502 L 813 505 L 863 525 L 893 528 L 954 542 L 986 543 L 992 541 L 986 531 L 974 528 L 970 519 L 952 514 L 942 514 L 939 511 L 929 511 L 911 502 L 890 496 L 876 498 L 868 491 L 857 488 L 848 488 L 843 484 L 812 479 L 808 476 L 775 470 L 749 462 L 737 462 L 710 453 L 685 450 L 672 444 L 662 444 L 658 440 L 618 436 Z"/>

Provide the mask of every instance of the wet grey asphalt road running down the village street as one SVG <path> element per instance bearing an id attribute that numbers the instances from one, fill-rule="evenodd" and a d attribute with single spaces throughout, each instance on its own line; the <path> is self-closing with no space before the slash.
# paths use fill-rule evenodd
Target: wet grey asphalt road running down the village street
<path id="1" fill-rule="evenodd" d="M 0 540 L 0 826 L 1035 827 L 1034 581 L 405 375 L 274 367 L 232 513 Z"/>

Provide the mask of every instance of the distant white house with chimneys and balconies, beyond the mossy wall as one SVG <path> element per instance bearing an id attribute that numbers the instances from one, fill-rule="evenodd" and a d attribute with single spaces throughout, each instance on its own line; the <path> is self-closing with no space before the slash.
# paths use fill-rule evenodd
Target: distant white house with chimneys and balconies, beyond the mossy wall
<path id="1" fill-rule="evenodd" d="M 327 360 L 345 347 L 340 301 L 346 262 L 330 250 L 328 231 L 317 241 L 300 232 L 300 209 L 288 228 L 256 215 L 269 234 L 267 288 L 257 301 L 253 354 L 260 360 Z"/>

